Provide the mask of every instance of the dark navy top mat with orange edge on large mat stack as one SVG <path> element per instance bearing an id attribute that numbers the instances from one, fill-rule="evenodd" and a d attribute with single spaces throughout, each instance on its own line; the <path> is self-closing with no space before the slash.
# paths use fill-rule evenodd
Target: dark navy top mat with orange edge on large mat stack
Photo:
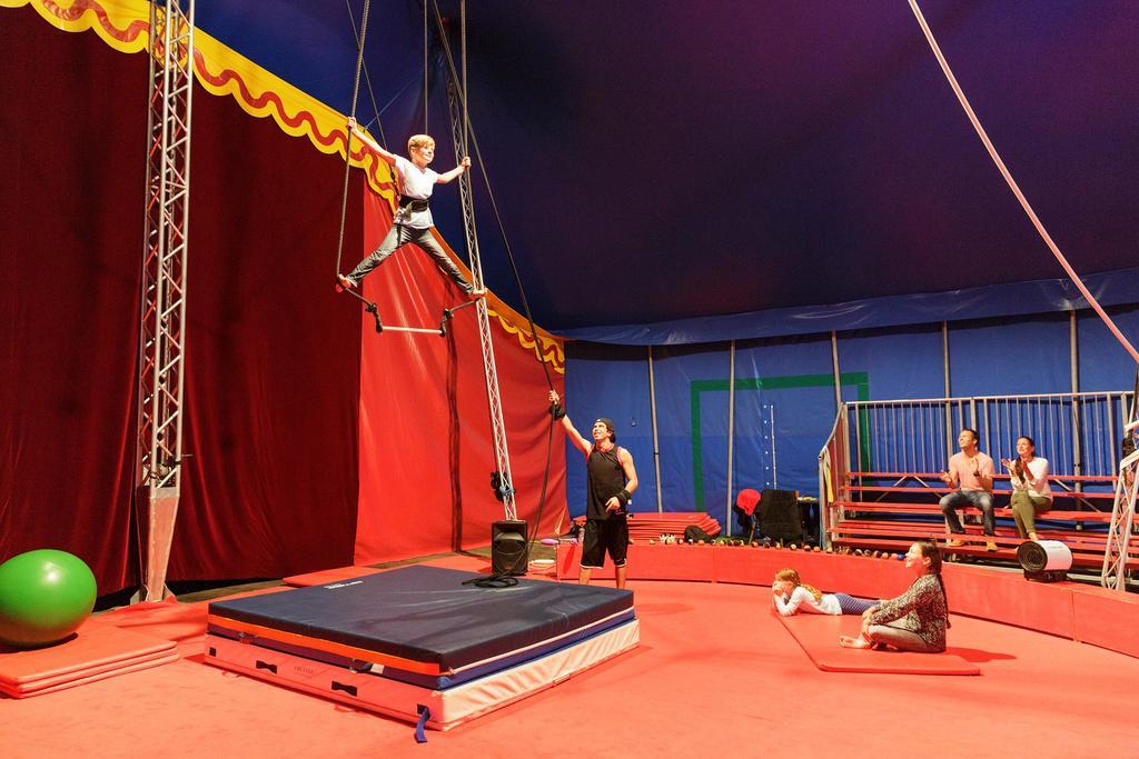
<path id="1" fill-rule="evenodd" d="M 632 593 L 519 580 L 464 585 L 474 572 L 411 566 L 210 604 L 210 629 L 423 675 L 509 655 L 632 608 Z"/>

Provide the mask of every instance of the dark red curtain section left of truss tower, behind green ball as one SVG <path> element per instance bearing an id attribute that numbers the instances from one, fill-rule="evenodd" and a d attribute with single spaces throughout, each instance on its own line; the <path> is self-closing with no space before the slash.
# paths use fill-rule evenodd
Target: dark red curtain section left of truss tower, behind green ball
<path id="1" fill-rule="evenodd" d="M 0 561 L 133 585 L 146 56 L 0 10 Z"/>

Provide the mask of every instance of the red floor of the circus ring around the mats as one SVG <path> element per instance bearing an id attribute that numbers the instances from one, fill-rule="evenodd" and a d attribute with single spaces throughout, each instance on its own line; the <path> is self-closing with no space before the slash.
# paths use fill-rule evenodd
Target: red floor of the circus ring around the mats
<path id="1" fill-rule="evenodd" d="M 187 633 L 194 613 L 204 621 L 204 607 L 191 607 L 178 619 L 178 662 L 0 700 L 0 756 L 1137 754 L 1136 728 L 1117 704 L 1130 701 L 1139 659 L 954 618 L 950 645 L 981 667 L 978 677 L 822 673 L 771 616 L 767 588 L 631 587 L 638 650 L 451 732 L 429 732 L 423 745 L 404 723 L 203 665 L 200 635 Z M 148 613 L 161 632 L 157 612 Z M 145 630 L 146 616 L 133 617 L 132 629 Z"/>

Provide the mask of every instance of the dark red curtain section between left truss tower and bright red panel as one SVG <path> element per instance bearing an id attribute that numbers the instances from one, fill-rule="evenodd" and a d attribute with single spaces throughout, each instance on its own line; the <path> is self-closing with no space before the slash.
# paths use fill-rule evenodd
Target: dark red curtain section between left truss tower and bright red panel
<path id="1" fill-rule="evenodd" d="M 334 289 L 344 162 L 195 93 L 186 469 L 172 579 L 352 562 L 360 320 Z M 360 217 L 353 172 L 347 217 Z M 355 258 L 360 225 L 347 225 Z M 354 261 L 353 261 L 354 263 Z"/>

